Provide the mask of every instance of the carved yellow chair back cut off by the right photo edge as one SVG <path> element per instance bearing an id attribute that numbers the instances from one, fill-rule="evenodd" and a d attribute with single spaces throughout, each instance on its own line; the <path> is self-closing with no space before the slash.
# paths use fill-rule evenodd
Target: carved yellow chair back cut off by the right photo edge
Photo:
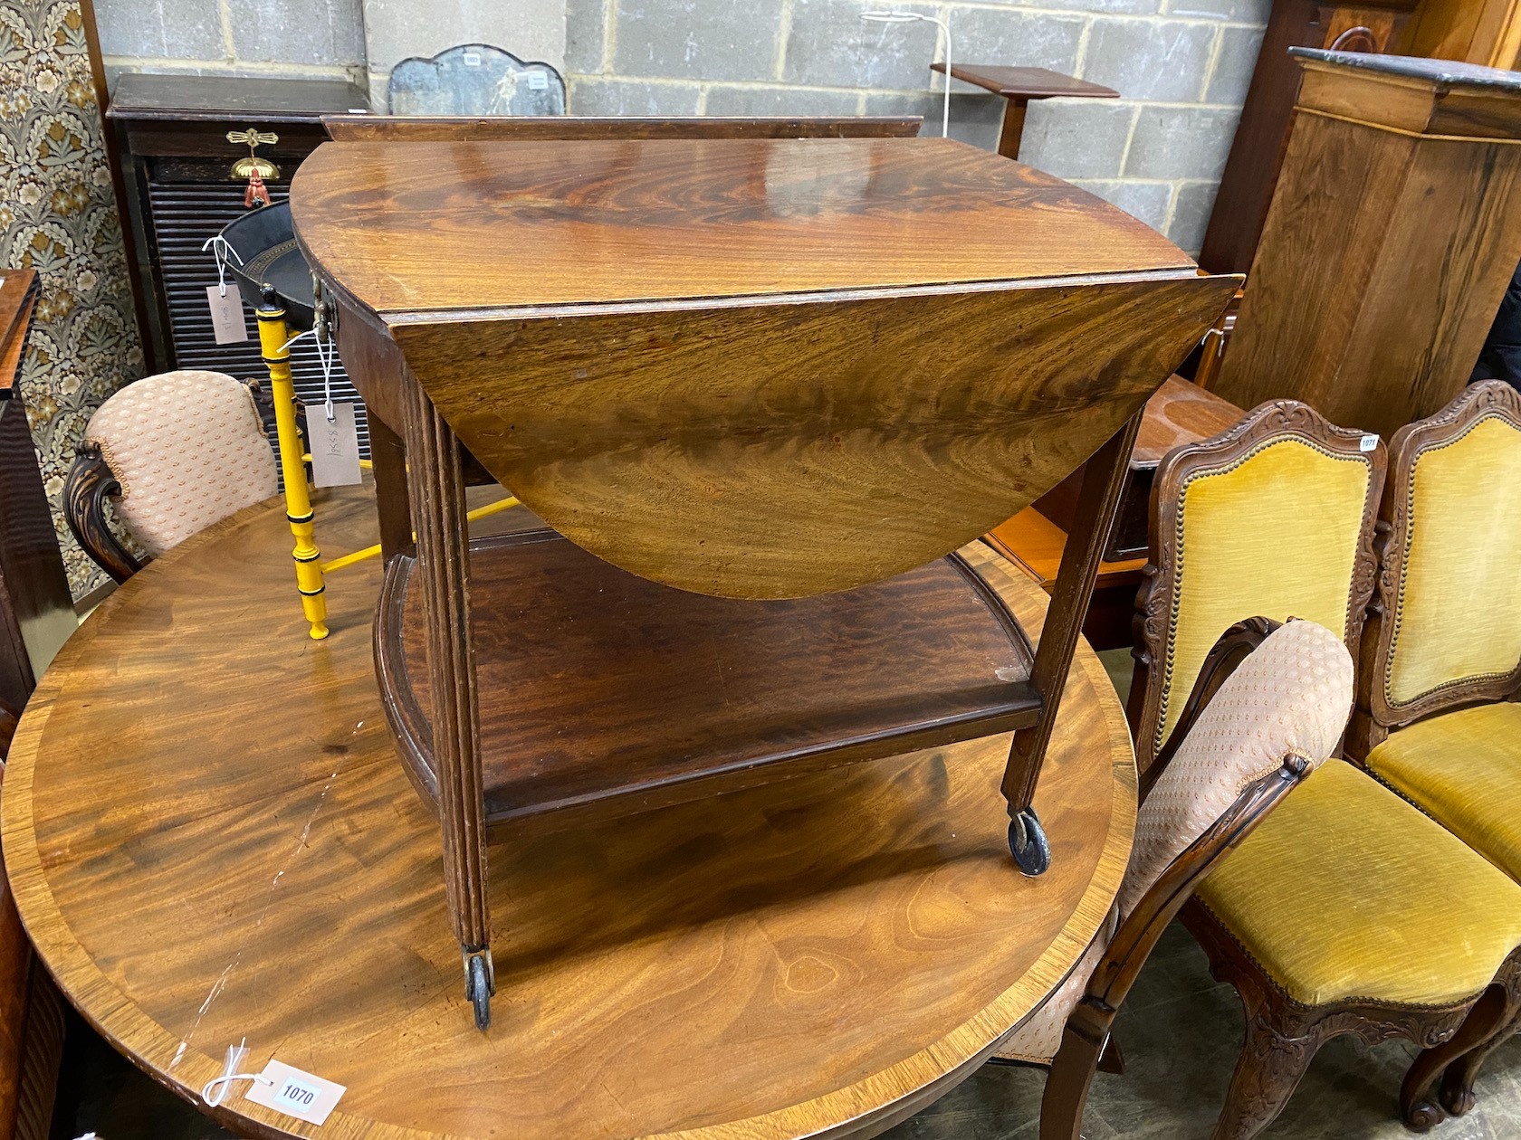
<path id="1" fill-rule="evenodd" d="M 1351 749 L 1521 695 L 1521 392 L 1465 389 L 1395 432 Z"/>

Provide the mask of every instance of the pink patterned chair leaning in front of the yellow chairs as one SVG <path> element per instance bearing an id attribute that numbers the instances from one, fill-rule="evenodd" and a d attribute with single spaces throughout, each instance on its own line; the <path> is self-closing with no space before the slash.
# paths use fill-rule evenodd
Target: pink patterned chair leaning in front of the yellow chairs
<path id="1" fill-rule="evenodd" d="M 1211 868 L 1335 751 L 1351 711 L 1352 658 L 1325 626 L 1258 617 L 1215 643 L 1153 768 L 1115 914 L 995 1053 L 1051 1067 L 1040 1140 L 1080 1135 L 1115 1014 L 1156 939 Z"/>

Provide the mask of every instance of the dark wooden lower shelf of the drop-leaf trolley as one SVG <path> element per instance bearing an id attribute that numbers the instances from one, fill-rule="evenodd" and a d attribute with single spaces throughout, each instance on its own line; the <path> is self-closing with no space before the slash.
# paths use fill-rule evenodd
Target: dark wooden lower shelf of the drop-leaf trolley
<path id="1" fill-rule="evenodd" d="M 386 570 L 376 667 L 414 784 L 437 810 L 415 561 Z M 637 578 L 552 530 L 470 544 L 488 828 L 621 816 L 1036 722 L 1031 648 L 954 555 L 780 602 Z M 569 816 L 567 816 L 569 819 Z"/>

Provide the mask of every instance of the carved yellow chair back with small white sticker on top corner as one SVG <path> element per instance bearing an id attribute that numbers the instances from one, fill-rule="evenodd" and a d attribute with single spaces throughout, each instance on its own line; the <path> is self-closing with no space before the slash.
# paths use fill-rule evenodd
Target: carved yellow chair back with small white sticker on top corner
<path id="1" fill-rule="evenodd" d="M 1142 789 L 1215 638 L 1252 616 L 1302 617 L 1357 646 L 1373 591 L 1386 450 L 1273 400 L 1170 451 L 1151 486 L 1129 717 Z"/>

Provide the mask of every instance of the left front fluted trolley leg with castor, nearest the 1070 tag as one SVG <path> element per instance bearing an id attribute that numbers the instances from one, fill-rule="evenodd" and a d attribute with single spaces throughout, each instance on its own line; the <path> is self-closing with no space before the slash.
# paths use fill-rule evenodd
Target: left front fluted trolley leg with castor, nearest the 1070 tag
<path id="1" fill-rule="evenodd" d="M 496 973 L 485 888 L 481 711 L 470 649 L 470 552 L 459 442 L 408 377 L 406 480 L 417 524 L 417 581 L 427 626 L 433 763 L 444 833 L 444 891 L 464 956 L 476 1026 L 491 1023 Z"/>

